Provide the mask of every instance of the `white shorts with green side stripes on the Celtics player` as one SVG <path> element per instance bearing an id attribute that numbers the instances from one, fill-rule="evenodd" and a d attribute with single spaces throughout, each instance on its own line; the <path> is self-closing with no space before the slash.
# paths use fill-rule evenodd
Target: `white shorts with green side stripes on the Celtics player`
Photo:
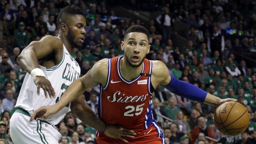
<path id="1" fill-rule="evenodd" d="M 39 120 L 29 121 L 28 114 L 15 111 L 10 120 L 10 134 L 14 144 L 59 144 L 61 134 L 55 126 Z"/>

